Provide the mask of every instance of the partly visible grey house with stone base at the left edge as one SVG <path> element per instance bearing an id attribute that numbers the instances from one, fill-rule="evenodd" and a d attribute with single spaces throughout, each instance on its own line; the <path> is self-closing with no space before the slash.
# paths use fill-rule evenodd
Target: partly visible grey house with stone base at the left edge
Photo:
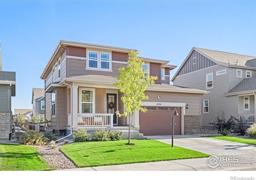
<path id="1" fill-rule="evenodd" d="M 15 96 L 16 73 L 2 71 L 0 44 L 0 139 L 10 139 L 12 130 L 12 96 Z"/>

